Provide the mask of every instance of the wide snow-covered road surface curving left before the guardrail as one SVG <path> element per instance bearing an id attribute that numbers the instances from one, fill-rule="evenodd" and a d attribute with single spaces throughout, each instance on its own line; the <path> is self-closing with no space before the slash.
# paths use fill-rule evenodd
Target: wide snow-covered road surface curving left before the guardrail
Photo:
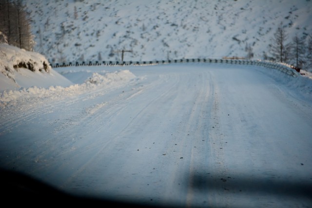
<path id="1" fill-rule="evenodd" d="M 131 79 L 81 87 L 104 70 Z M 1 103 L 1 167 L 146 205 L 312 206 L 312 100 L 269 70 L 59 68 L 77 84 Z"/>

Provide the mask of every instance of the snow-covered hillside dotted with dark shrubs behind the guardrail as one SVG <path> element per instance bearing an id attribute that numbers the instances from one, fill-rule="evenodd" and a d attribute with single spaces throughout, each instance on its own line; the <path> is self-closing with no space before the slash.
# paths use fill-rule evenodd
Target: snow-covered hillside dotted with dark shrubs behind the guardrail
<path id="1" fill-rule="evenodd" d="M 25 0 L 36 51 L 52 63 L 255 59 L 282 22 L 292 37 L 312 34 L 310 0 Z"/>

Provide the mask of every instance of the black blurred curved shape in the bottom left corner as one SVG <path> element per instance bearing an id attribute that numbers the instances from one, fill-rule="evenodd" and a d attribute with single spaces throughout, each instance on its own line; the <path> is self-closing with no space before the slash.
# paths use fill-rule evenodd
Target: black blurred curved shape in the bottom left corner
<path id="1" fill-rule="evenodd" d="M 113 200 L 105 200 L 89 197 L 77 197 L 64 193 L 54 187 L 44 184 L 28 175 L 20 172 L 0 170 L 1 198 L 2 204 L 9 207 L 15 206 L 101 206 L 101 207 L 122 207 L 141 208 L 151 207 L 139 203 L 128 203 Z"/>

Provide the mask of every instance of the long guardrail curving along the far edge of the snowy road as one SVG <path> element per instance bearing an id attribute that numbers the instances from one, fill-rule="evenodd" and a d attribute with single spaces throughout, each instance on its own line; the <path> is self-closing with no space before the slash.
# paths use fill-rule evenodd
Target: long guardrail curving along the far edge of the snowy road
<path id="1" fill-rule="evenodd" d="M 286 73 L 292 77 L 297 77 L 300 73 L 297 69 L 286 63 L 269 62 L 261 60 L 244 60 L 244 59 L 176 59 L 176 60 L 162 60 L 162 61 L 149 61 L 149 62 L 118 62 L 118 61 L 102 61 L 102 62 L 68 62 L 68 63 L 55 63 L 50 64 L 52 68 L 68 67 L 68 66 L 129 66 L 129 65 L 156 65 L 156 64 L 169 64 L 169 63 L 188 63 L 188 62 L 203 62 L 203 63 L 229 63 L 241 65 L 256 65 L 266 68 L 272 68 Z"/>

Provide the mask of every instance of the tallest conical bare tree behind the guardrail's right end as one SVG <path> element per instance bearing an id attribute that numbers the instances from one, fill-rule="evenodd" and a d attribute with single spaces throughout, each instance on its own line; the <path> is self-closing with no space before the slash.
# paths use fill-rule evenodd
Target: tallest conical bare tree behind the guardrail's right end
<path id="1" fill-rule="evenodd" d="M 287 41 L 287 33 L 283 28 L 282 23 L 278 26 L 276 32 L 273 37 L 273 44 L 271 47 L 271 54 L 273 55 L 273 59 L 279 62 L 287 62 L 289 59 L 289 49 L 290 45 L 286 44 Z"/>

